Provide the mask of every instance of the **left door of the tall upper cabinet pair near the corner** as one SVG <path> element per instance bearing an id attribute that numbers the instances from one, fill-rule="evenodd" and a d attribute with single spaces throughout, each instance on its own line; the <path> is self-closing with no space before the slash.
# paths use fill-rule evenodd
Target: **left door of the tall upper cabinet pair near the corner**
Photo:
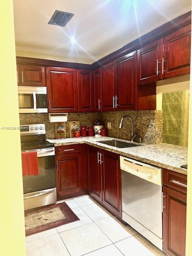
<path id="1" fill-rule="evenodd" d="M 102 68 L 102 111 L 115 110 L 116 66 L 111 62 Z"/>

